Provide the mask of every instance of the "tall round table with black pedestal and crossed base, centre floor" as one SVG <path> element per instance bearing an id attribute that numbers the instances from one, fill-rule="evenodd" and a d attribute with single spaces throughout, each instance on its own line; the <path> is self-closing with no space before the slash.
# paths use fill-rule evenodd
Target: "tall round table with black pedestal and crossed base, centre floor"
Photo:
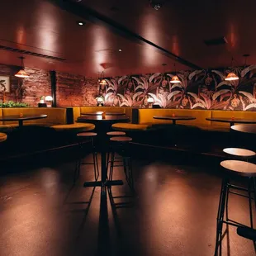
<path id="1" fill-rule="evenodd" d="M 79 116 L 78 122 L 89 122 L 96 126 L 97 129 L 97 139 L 99 144 L 99 150 L 102 156 L 101 173 L 102 181 L 100 182 L 86 182 L 83 187 L 102 187 L 102 196 L 106 194 L 106 187 L 111 187 L 115 185 L 122 185 L 121 180 L 107 181 L 107 163 L 106 154 L 108 150 L 108 139 L 107 131 L 111 130 L 111 125 L 115 122 L 127 122 L 129 118 L 127 116 L 106 116 L 105 119 L 99 115 L 86 115 Z"/>

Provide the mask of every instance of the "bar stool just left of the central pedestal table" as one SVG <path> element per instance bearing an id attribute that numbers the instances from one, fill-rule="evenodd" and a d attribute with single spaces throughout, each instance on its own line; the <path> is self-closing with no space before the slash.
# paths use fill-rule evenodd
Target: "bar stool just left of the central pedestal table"
<path id="1" fill-rule="evenodd" d="M 80 174 L 80 167 L 81 167 L 82 164 L 87 164 L 87 165 L 92 164 L 93 165 L 94 178 L 95 178 L 95 180 L 97 180 L 97 178 L 99 177 L 99 170 L 98 170 L 98 164 L 97 164 L 97 151 L 96 151 L 94 141 L 93 141 L 93 137 L 97 136 L 97 133 L 95 133 L 95 132 L 80 132 L 80 133 L 77 134 L 77 136 L 79 138 L 90 138 L 91 139 L 91 141 L 92 141 L 93 163 L 83 163 L 82 162 L 82 156 L 80 155 L 78 161 L 76 162 L 76 167 L 74 169 L 73 183 L 75 183 L 76 179 L 78 178 L 78 176 Z M 81 141 L 79 142 L 79 147 L 80 147 L 81 150 L 83 149 L 83 144 L 82 144 Z"/>

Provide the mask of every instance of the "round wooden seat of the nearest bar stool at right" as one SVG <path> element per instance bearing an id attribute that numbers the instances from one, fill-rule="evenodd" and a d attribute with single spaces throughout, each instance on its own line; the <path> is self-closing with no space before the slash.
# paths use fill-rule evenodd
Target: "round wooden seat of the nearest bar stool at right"
<path id="1" fill-rule="evenodd" d="M 244 177 L 256 177 L 256 164 L 239 161 L 225 160 L 220 165 L 230 172 L 234 172 Z"/>

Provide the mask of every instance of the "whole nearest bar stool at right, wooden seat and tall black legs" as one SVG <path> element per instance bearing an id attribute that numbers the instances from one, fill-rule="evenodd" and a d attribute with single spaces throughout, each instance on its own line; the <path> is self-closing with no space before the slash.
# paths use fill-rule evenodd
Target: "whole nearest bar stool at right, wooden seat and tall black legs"
<path id="1" fill-rule="evenodd" d="M 228 151 L 228 150 L 226 150 Z M 244 153 L 244 151 L 243 151 Z M 220 166 L 225 169 L 225 177 L 222 179 L 221 190 L 220 190 L 220 201 L 217 213 L 217 230 L 216 230 L 216 249 L 215 256 L 221 255 L 221 242 L 222 242 L 222 227 L 223 223 L 226 225 L 234 225 L 237 227 L 244 227 L 245 225 L 239 224 L 235 220 L 230 220 L 228 217 L 228 201 L 229 194 L 235 194 L 241 197 L 249 198 L 249 217 L 250 217 L 250 225 L 253 229 L 253 213 L 252 213 L 252 199 L 256 198 L 256 164 L 252 164 L 245 161 L 239 160 L 225 160 L 220 163 Z M 239 177 L 249 178 L 248 189 L 244 187 L 238 187 L 230 183 L 230 175 L 234 174 Z M 254 187 L 254 197 L 251 196 L 252 187 Z M 248 196 L 240 194 L 239 192 L 230 192 L 232 190 L 244 191 L 248 192 Z M 256 201 L 255 201 L 256 203 Z M 225 216 L 224 216 L 225 215 Z M 220 249 L 219 249 L 220 248 Z M 218 254 L 219 253 L 219 254 Z"/>

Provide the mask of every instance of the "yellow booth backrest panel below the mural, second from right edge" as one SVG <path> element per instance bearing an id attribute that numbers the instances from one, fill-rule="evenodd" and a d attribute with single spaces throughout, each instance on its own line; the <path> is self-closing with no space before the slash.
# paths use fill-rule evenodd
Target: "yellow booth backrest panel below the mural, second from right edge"
<path id="1" fill-rule="evenodd" d="M 154 119 L 153 116 L 195 116 L 196 120 L 177 121 L 178 124 L 192 126 L 210 126 L 211 121 L 206 121 L 206 117 L 211 117 L 211 111 L 189 110 L 189 109 L 139 109 L 139 124 L 145 123 L 172 123 L 172 121 Z"/>

